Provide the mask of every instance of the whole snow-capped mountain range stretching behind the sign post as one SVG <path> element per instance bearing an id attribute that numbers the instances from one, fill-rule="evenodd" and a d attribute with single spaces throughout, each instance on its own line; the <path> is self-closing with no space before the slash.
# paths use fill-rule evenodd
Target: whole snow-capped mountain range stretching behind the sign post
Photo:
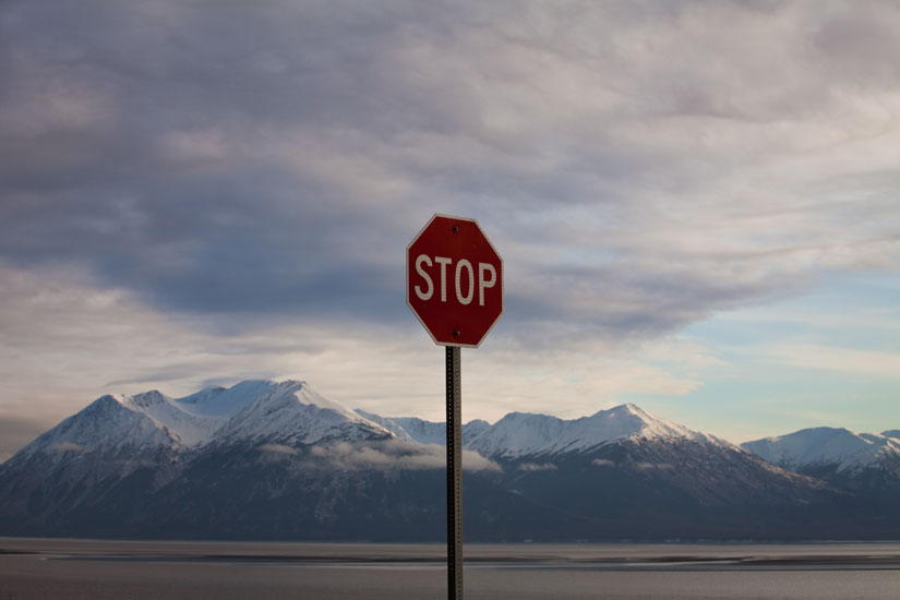
<path id="1" fill-rule="evenodd" d="M 297 381 L 103 396 L 0 465 L 0 536 L 436 541 L 444 435 Z M 897 435 L 737 446 L 634 405 L 476 420 L 466 538 L 897 539 Z"/>

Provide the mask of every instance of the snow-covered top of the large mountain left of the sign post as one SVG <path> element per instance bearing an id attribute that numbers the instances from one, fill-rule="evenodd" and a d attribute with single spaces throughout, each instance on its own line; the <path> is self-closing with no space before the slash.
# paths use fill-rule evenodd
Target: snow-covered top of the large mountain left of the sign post
<path id="1" fill-rule="evenodd" d="M 182 452 L 223 437 L 316 443 L 341 435 L 350 441 L 391 433 L 304 382 L 244 381 L 183 398 L 157 391 L 101 396 L 19 454 L 41 452 L 56 460 L 64 453 Z"/>

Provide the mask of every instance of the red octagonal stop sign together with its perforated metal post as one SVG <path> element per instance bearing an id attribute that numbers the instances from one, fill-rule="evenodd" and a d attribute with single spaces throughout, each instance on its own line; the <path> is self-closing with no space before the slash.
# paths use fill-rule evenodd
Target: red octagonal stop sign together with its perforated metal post
<path id="1" fill-rule="evenodd" d="M 447 375 L 447 598 L 463 600 L 460 347 L 478 348 L 503 314 L 503 259 L 473 219 L 434 215 L 406 249 L 406 302 Z"/>

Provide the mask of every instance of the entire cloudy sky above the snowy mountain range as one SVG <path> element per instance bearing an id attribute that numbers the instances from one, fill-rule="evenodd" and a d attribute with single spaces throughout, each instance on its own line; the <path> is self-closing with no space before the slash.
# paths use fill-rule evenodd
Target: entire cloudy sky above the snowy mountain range
<path id="1" fill-rule="evenodd" d="M 464 418 L 900 427 L 896 2 L 0 3 L 0 458 L 107 393 L 443 415 L 435 212 L 506 313 Z"/>

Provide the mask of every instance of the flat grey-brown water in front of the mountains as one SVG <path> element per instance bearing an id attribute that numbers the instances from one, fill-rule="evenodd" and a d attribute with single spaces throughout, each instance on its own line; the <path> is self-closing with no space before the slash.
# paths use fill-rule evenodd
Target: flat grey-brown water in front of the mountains
<path id="1" fill-rule="evenodd" d="M 0 538 L 0 600 L 446 598 L 437 544 Z M 466 598 L 900 600 L 900 543 L 466 547 Z"/>

